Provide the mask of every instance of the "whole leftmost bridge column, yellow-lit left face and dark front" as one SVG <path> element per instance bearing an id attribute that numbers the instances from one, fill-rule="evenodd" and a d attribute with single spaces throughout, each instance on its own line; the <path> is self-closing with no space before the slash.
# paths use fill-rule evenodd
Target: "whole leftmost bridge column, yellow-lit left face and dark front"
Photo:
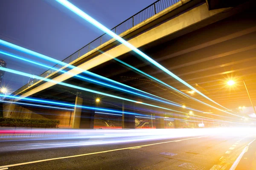
<path id="1" fill-rule="evenodd" d="M 75 105 L 83 105 L 84 103 L 83 101 L 84 101 L 83 98 L 77 95 Z M 78 108 L 75 106 L 72 128 L 93 129 L 94 115 L 95 115 L 94 110 Z"/>

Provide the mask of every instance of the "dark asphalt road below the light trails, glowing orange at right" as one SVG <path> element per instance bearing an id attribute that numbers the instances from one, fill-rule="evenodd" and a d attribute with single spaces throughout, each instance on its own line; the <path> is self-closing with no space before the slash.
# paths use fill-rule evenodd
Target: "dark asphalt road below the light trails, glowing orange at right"
<path id="1" fill-rule="evenodd" d="M 0 170 L 229 170 L 255 138 L 210 135 L 89 146 L 76 144 L 90 139 L 2 140 Z M 40 148 L 26 147 L 31 145 Z"/>

